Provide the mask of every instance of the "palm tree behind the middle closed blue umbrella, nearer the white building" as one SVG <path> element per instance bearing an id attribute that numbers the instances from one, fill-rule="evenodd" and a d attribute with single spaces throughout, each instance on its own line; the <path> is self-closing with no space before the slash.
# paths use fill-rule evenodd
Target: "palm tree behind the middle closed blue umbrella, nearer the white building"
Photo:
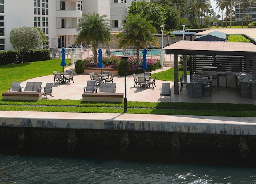
<path id="1" fill-rule="evenodd" d="M 78 25 L 75 43 L 86 41 L 86 44 L 92 43 L 94 53 L 94 63 L 97 63 L 97 47 L 99 43 L 108 43 L 111 40 L 111 26 L 106 15 L 100 16 L 93 12 L 92 14 L 84 14 L 82 22 Z"/>

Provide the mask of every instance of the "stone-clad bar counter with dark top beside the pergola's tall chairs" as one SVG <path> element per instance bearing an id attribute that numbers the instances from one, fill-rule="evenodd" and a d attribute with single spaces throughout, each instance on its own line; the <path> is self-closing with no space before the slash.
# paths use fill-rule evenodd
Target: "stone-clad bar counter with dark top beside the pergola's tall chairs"
<path id="1" fill-rule="evenodd" d="M 202 98 L 204 85 L 207 84 L 209 75 L 187 75 L 184 82 L 188 84 L 188 98 Z"/>

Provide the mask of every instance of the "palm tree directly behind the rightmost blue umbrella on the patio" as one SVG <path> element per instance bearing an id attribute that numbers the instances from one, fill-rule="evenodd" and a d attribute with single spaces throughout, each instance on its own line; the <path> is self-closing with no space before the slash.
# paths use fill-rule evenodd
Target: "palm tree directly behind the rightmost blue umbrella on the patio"
<path id="1" fill-rule="evenodd" d="M 156 36 L 152 34 L 157 33 L 157 30 L 151 23 L 151 20 L 147 20 L 147 16 L 128 14 L 126 23 L 118 34 L 118 47 L 134 46 L 136 48 L 137 64 L 139 64 L 140 47 L 148 49 L 148 44 L 159 46 Z"/>

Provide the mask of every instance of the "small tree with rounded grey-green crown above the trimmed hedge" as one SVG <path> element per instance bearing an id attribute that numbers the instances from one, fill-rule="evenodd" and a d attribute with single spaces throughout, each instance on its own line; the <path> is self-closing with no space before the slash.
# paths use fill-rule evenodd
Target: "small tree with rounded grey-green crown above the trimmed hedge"
<path id="1" fill-rule="evenodd" d="M 40 32 L 34 27 L 12 28 L 10 31 L 12 48 L 19 49 L 23 56 L 29 49 L 35 49 L 41 44 Z"/>

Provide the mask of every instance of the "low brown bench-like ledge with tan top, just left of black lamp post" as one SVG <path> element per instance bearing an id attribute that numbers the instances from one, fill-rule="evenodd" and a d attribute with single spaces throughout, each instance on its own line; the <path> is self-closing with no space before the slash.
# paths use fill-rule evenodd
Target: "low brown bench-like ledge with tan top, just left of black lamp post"
<path id="1" fill-rule="evenodd" d="M 124 93 L 83 93 L 83 101 L 123 102 Z"/>

